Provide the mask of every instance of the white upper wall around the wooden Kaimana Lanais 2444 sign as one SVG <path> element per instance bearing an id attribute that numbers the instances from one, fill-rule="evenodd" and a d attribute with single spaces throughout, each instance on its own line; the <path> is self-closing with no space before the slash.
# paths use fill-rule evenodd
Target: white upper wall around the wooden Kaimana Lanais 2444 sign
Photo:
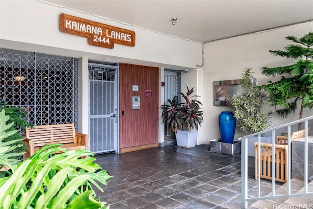
<path id="1" fill-rule="evenodd" d="M 115 44 L 113 49 L 90 46 L 87 38 L 60 31 L 61 13 L 132 30 L 136 34 L 135 46 Z M 127 58 L 138 61 L 134 64 L 152 62 L 155 67 L 196 68 L 202 54 L 202 44 L 198 42 L 36 0 L 0 0 L 0 46 L 76 58 L 109 56 L 112 62 L 114 58 Z"/>

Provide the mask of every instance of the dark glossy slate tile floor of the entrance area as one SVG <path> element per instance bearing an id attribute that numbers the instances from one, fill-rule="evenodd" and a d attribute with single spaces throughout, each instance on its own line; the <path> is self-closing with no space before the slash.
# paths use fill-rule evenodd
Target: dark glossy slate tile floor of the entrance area
<path id="1" fill-rule="evenodd" d="M 241 208 L 241 155 L 213 153 L 207 145 L 171 145 L 96 159 L 114 177 L 104 192 L 96 190 L 110 209 Z M 255 185 L 253 175 L 249 184 Z"/>

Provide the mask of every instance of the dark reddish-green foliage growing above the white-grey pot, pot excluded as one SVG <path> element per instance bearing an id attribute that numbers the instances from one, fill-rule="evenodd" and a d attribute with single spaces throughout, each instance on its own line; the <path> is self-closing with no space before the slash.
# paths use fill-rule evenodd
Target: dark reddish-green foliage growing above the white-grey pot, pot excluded
<path id="1" fill-rule="evenodd" d="M 179 93 L 184 99 L 185 103 L 179 103 L 177 96 L 174 96 L 173 100 L 168 99 L 169 104 L 162 105 L 163 109 L 162 117 L 165 124 L 169 124 L 173 131 L 177 132 L 178 129 L 182 131 L 190 131 L 197 129 L 201 126 L 203 121 L 203 111 L 201 111 L 201 102 L 191 96 L 194 92 L 194 88 L 187 87 L 186 93 Z"/>

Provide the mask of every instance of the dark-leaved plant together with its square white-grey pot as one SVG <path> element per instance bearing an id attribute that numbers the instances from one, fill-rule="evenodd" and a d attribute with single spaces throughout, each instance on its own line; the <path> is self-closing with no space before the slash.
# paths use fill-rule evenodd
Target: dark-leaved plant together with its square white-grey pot
<path id="1" fill-rule="evenodd" d="M 193 92 L 194 88 L 189 90 L 187 86 L 186 93 L 179 93 L 184 98 L 184 103 L 178 102 L 177 96 L 174 96 L 173 100 L 168 99 L 169 104 L 161 106 L 163 122 L 175 131 L 177 145 L 186 148 L 196 146 L 198 127 L 203 121 L 203 111 L 200 107 L 202 104 L 192 99 L 198 97 L 191 96 Z"/>

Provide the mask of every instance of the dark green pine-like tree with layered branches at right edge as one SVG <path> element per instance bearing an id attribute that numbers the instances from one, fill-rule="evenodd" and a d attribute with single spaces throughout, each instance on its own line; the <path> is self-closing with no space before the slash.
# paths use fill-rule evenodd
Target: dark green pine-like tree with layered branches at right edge
<path id="1" fill-rule="evenodd" d="M 294 44 L 285 46 L 285 50 L 269 50 L 275 56 L 295 59 L 292 65 L 275 68 L 262 68 L 262 74 L 269 77 L 280 76 L 276 82 L 268 81 L 261 88 L 269 95 L 268 104 L 271 107 L 281 107 L 276 110 L 279 116 L 288 117 L 294 114 L 300 106 L 299 119 L 303 109 L 313 107 L 313 32 L 301 38 L 286 37 Z M 301 129 L 299 124 L 298 129 Z"/>

